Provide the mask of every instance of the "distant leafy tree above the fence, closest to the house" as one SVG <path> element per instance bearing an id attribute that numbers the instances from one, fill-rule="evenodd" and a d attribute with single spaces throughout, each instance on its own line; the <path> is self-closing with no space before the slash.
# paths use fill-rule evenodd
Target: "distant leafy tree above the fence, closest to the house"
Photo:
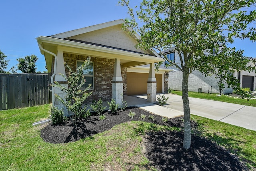
<path id="1" fill-rule="evenodd" d="M 35 55 L 25 56 L 24 58 L 18 58 L 18 70 L 20 70 L 22 73 L 36 73 L 37 60 L 38 58 Z"/>

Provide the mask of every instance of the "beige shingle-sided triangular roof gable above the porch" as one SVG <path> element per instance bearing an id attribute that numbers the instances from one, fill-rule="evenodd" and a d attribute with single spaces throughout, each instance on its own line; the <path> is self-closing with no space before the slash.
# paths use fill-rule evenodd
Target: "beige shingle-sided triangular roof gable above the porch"
<path id="1" fill-rule="evenodd" d="M 152 51 L 144 51 L 136 48 L 136 45 L 138 44 L 136 39 L 139 39 L 140 36 L 130 36 L 128 32 L 123 30 L 122 24 L 124 24 L 124 22 L 125 21 L 123 19 L 115 20 L 112 22 L 106 22 L 103 24 L 80 28 L 69 32 L 55 34 L 50 37 L 80 42 L 89 42 L 93 44 L 156 56 L 156 54 L 154 54 L 154 52 L 152 53 Z"/>

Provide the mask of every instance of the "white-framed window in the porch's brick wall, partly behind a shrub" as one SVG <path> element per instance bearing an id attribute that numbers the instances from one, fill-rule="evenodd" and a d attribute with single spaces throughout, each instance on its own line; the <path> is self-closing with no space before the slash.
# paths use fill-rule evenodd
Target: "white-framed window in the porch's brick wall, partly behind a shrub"
<path id="1" fill-rule="evenodd" d="M 82 64 L 84 64 L 84 61 L 76 61 L 76 68 L 80 67 Z M 82 88 L 88 87 L 89 84 L 92 84 L 90 89 L 94 89 L 94 70 L 93 70 L 93 62 L 90 63 L 86 69 L 84 70 L 84 79 L 86 82 L 84 85 L 82 85 Z"/>

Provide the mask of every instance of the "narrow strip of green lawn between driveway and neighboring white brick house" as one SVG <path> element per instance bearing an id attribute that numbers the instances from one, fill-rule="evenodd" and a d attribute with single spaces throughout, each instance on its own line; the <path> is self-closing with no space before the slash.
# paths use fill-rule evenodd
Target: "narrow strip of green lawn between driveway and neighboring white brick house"
<path id="1" fill-rule="evenodd" d="M 176 95 L 182 95 L 182 91 L 174 91 L 172 90 L 173 94 Z M 217 96 L 218 94 L 216 93 L 198 93 L 198 92 L 188 92 L 189 97 L 195 97 L 195 98 L 200 98 L 200 99 L 208 99 L 208 100 L 215 100 L 215 101 L 223 101 L 223 102 L 228 102 L 228 103 L 235 103 L 235 104 L 240 104 L 240 105 L 248 105 L 248 106 L 254 106 L 256 107 L 256 99 L 250 99 L 247 101 L 247 99 L 238 99 L 234 97 L 228 97 L 227 95 L 221 95 Z"/>

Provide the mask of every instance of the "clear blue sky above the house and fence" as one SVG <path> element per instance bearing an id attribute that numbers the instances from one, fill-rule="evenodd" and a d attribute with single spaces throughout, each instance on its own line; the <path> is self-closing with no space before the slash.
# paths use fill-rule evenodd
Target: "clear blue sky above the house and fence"
<path id="1" fill-rule="evenodd" d="M 18 64 L 17 58 L 34 54 L 39 58 L 37 71 L 46 71 L 36 37 L 129 18 L 118 0 L 2 0 L 0 6 L 0 50 L 9 60 L 8 70 Z M 234 46 L 256 57 L 255 42 L 236 40 Z"/>

